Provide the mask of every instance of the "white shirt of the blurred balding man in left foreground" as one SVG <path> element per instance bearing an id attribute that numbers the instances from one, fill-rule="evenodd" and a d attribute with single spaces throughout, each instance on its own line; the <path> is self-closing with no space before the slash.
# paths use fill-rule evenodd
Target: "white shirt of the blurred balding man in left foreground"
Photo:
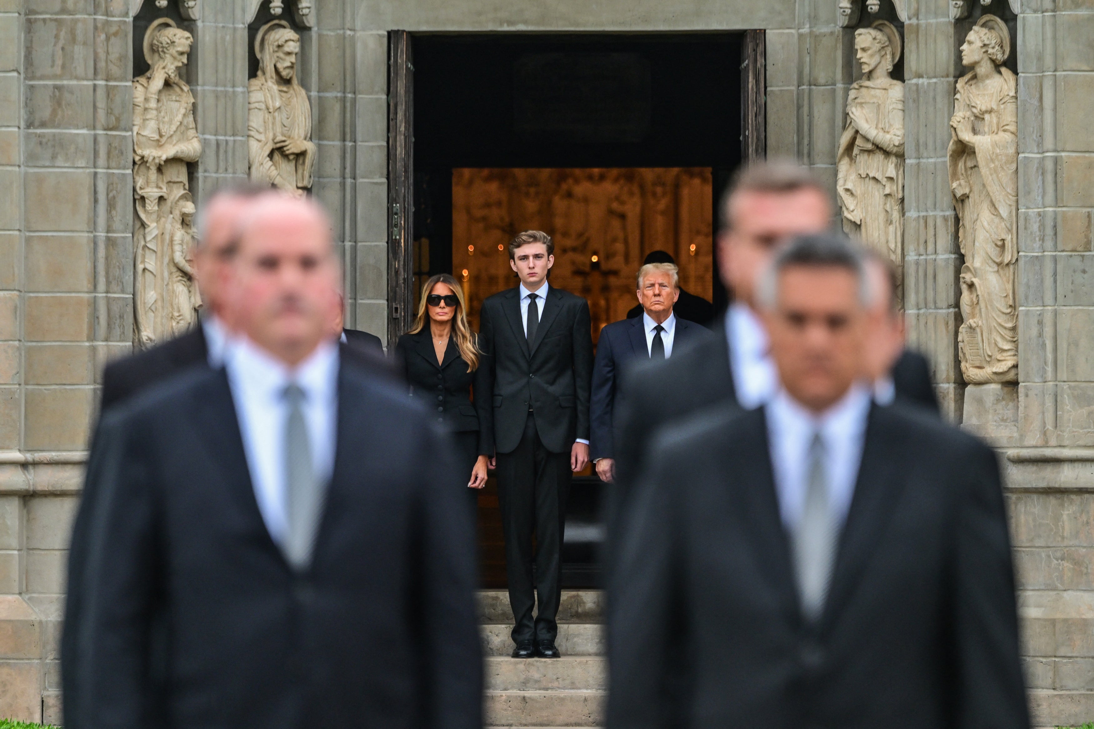
<path id="1" fill-rule="evenodd" d="M 224 355 L 255 499 L 266 529 L 280 544 L 289 527 L 284 472 L 289 405 L 284 388 L 295 383 L 304 391 L 302 408 L 312 463 L 321 479 L 329 480 L 338 430 L 338 345 L 324 342 L 295 371 L 245 337 L 234 338 Z"/>

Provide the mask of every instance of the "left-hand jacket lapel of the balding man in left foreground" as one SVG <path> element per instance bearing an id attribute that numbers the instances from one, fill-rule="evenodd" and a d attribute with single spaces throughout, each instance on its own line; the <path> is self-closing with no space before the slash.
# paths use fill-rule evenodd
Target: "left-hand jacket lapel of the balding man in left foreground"
<path id="1" fill-rule="evenodd" d="M 209 452 L 205 460 L 220 471 L 225 491 L 246 521 L 248 532 L 280 556 L 281 550 L 274 543 L 255 499 L 240 421 L 224 369 L 217 372 L 210 387 L 195 390 L 193 397 L 197 431 Z"/>

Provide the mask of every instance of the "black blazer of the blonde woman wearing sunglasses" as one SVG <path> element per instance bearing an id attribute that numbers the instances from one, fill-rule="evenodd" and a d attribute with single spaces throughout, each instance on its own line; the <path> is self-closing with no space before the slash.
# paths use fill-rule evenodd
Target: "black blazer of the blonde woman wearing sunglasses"
<path id="1" fill-rule="evenodd" d="M 489 402 L 472 402 L 472 388 L 485 391 L 480 385 L 486 376 L 482 357 L 479 367 L 467 372 L 454 337 L 449 338 L 444 362 L 438 364 L 429 327 L 416 334 L 403 334 L 395 345 L 397 356 L 410 385 L 410 397 L 419 398 L 426 408 L 437 413 L 438 422 L 452 432 L 478 431 L 479 454 L 493 455 L 493 419 Z"/>

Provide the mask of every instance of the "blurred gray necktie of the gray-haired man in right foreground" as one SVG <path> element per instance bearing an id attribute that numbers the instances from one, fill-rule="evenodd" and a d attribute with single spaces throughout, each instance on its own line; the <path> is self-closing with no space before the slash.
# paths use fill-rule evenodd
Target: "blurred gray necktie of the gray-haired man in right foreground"
<path id="1" fill-rule="evenodd" d="M 821 618 L 824 610 L 838 533 L 839 525 L 828 502 L 824 442 L 821 434 L 815 433 L 810 445 L 802 518 L 793 534 L 798 592 L 802 600 L 802 614 L 810 622 Z"/>

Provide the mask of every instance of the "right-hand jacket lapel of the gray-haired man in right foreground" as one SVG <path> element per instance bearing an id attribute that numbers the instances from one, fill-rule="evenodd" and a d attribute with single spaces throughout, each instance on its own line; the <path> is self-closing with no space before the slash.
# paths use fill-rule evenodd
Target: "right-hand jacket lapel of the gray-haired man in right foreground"
<path id="1" fill-rule="evenodd" d="M 877 540 L 885 532 L 906 484 L 901 454 L 896 447 L 900 434 L 884 408 L 871 405 L 862 462 L 854 484 L 854 495 L 839 540 L 824 623 L 839 614 L 859 584 L 859 577 L 874 554 Z"/>

